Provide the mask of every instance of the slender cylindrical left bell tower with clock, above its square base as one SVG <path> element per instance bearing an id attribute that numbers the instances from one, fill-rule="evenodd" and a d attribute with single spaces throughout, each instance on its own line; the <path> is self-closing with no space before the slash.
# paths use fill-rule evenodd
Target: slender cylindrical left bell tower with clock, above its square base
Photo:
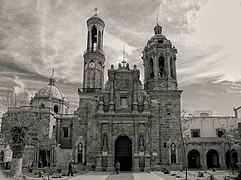
<path id="1" fill-rule="evenodd" d="M 83 91 L 102 91 L 104 85 L 105 53 L 103 51 L 103 33 L 105 23 L 95 14 L 87 20 L 87 49 L 84 52 Z"/>

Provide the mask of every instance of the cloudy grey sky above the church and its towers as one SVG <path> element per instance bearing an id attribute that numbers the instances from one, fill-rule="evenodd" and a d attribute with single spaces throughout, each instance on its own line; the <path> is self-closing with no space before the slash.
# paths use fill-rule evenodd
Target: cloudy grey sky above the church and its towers
<path id="1" fill-rule="evenodd" d="M 78 106 L 83 82 L 86 20 L 98 8 L 105 21 L 105 81 L 122 60 L 141 71 L 142 50 L 158 14 L 163 34 L 177 48 L 182 109 L 234 115 L 241 106 L 241 0 L 0 0 L 0 95 L 11 88 L 30 96 L 48 84 Z M 1 106 L 0 100 L 0 109 Z"/>

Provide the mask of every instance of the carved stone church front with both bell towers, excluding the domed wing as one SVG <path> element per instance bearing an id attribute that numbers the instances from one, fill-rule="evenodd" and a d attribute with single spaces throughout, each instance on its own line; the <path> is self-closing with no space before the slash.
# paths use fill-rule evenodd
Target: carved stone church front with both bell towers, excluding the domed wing
<path id="1" fill-rule="evenodd" d="M 180 95 L 176 79 L 176 53 L 157 24 L 143 50 L 144 89 L 140 71 L 124 60 L 111 65 L 104 86 L 104 22 L 97 14 L 87 20 L 83 89 L 79 89 L 73 142 L 81 138 L 86 163 L 97 170 L 160 169 L 182 166 Z M 80 129 L 83 129 L 80 131 Z"/>

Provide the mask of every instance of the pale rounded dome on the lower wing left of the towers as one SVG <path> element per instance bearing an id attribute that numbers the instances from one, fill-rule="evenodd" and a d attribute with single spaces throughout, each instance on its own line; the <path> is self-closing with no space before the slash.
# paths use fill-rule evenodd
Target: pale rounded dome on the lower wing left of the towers
<path id="1" fill-rule="evenodd" d="M 64 94 L 55 86 L 55 79 L 50 78 L 49 84 L 41 88 L 36 94 L 35 97 L 52 97 L 56 99 L 65 99 Z"/>

